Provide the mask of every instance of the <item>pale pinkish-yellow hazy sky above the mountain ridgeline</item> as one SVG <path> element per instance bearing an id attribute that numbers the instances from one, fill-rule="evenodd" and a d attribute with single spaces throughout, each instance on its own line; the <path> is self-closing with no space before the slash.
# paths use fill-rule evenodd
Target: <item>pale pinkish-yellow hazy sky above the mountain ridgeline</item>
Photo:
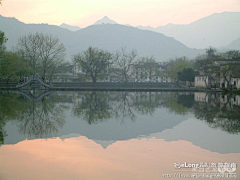
<path id="1" fill-rule="evenodd" d="M 86 27 L 108 16 L 120 24 L 188 24 L 220 12 L 239 12 L 240 0 L 2 0 L 0 14 L 24 23 Z"/>

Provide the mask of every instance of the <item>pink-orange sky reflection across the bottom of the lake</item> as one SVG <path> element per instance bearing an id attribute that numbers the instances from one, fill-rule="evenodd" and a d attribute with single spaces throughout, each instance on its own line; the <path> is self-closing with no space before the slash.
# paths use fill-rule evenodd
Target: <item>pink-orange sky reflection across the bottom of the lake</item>
<path id="1" fill-rule="evenodd" d="M 192 173 L 191 169 L 175 171 L 174 162 L 240 163 L 239 153 L 219 154 L 187 141 L 166 142 L 156 138 L 119 141 L 107 149 L 83 136 L 64 141 L 36 139 L 6 145 L 1 152 L 3 180 L 158 180 L 166 179 L 162 174 Z"/>

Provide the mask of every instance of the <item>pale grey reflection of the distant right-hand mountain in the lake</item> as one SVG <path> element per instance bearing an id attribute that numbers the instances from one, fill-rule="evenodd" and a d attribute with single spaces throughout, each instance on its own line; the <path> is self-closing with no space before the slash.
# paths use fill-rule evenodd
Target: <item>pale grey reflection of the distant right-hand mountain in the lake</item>
<path id="1" fill-rule="evenodd" d="M 149 137 L 165 139 L 166 141 L 186 140 L 203 149 L 221 154 L 240 153 L 239 135 L 212 129 L 206 126 L 203 121 L 194 118 L 187 119 L 173 129 L 151 134 Z"/>

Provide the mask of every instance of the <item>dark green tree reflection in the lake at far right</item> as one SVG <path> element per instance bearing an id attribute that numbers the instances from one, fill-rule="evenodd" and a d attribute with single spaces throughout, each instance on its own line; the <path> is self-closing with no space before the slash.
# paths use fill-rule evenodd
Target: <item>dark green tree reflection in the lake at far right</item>
<path id="1" fill-rule="evenodd" d="M 221 102 L 216 94 L 206 95 L 207 102 L 197 102 L 193 107 L 195 117 L 206 121 L 212 128 L 220 128 L 229 133 L 240 132 L 240 108 L 232 103 L 231 96 L 223 96 Z"/>

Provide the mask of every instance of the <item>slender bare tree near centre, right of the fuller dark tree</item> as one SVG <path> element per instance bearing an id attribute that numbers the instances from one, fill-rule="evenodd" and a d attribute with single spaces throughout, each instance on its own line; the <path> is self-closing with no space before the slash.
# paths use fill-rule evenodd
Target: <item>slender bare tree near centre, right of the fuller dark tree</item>
<path id="1" fill-rule="evenodd" d="M 114 66 L 118 71 L 115 71 L 120 81 L 127 83 L 129 79 L 134 75 L 135 68 L 134 63 L 137 57 L 137 51 L 126 51 L 126 48 L 121 48 L 120 52 L 117 52 L 114 57 Z"/>

